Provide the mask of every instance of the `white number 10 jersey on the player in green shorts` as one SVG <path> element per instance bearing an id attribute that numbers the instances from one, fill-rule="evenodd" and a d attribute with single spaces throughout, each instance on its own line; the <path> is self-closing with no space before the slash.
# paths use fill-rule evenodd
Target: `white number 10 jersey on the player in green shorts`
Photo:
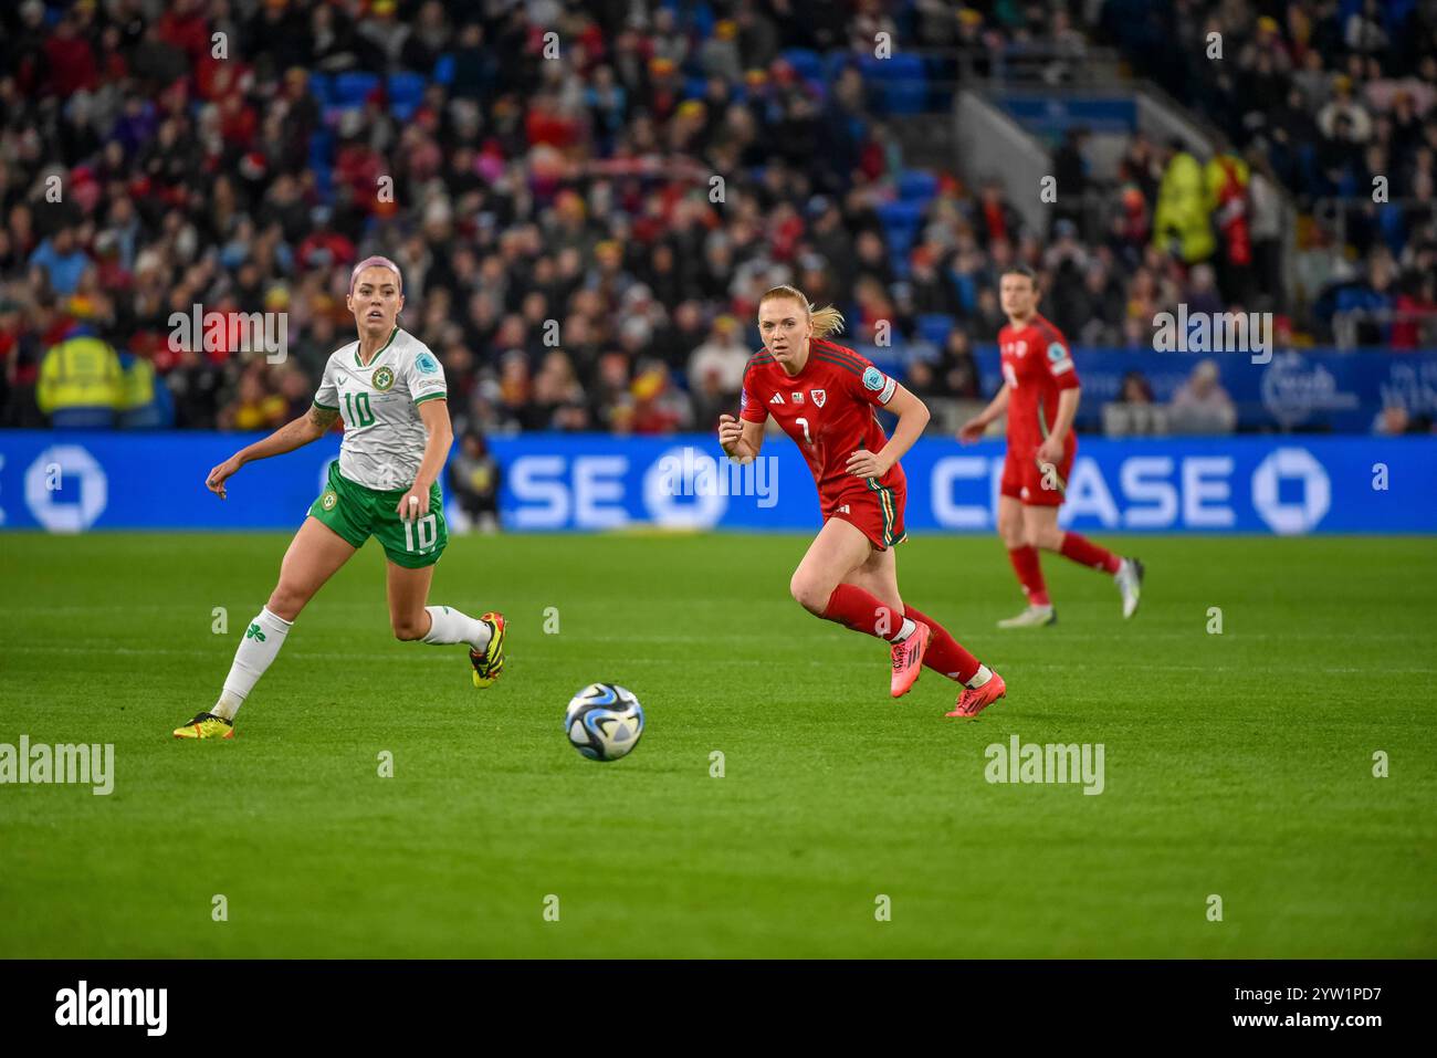
<path id="1" fill-rule="evenodd" d="M 369 364 L 358 341 L 332 352 L 315 405 L 345 421 L 339 473 L 366 489 L 408 489 L 428 437 L 418 405 L 447 395 L 438 356 L 398 326 Z"/>

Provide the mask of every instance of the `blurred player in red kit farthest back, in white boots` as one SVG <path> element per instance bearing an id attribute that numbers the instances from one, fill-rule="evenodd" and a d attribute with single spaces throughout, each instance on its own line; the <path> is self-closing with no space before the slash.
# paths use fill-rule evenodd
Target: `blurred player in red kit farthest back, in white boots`
<path id="1" fill-rule="evenodd" d="M 980 415 L 963 424 L 958 440 L 976 441 L 1007 411 L 1007 459 L 999 487 L 997 532 L 1027 595 L 1027 608 L 999 621 L 1002 628 L 1052 624 L 1058 611 L 1048 597 L 1038 549 L 1112 575 L 1122 594 L 1122 615 L 1132 617 L 1142 588 L 1142 564 L 1121 558 L 1078 533 L 1058 528 L 1058 507 L 1068 487 L 1078 438 L 1078 371 L 1062 334 L 1038 313 L 1038 279 L 1017 266 L 1003 273 L 999 299 L 1007 326 L 997 334 L 1003 387 Z"/>

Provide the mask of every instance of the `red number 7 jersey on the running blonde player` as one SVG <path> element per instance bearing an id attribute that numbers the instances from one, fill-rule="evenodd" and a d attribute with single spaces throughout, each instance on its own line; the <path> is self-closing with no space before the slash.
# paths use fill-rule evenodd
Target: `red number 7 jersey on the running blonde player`
<path id="1" fill-rule="evenodd" d="M 809 339 L 803 369 L 790 375 L 767 349 L 754 354 L 743 371 L 739 417 L 763 423 L 777 420 L 809 464 L 819 497 L 832 499 L 846 489 L 868 492 L 867 479 L 848 473 L 848 457 L 859 448 L 881 451 L 888 436 L 878 426 L 875 407 L 892 400 L 898 382 L 849 348 L 822 338 Z M 878 484 L 904 483 L 894 463 Z"/>

